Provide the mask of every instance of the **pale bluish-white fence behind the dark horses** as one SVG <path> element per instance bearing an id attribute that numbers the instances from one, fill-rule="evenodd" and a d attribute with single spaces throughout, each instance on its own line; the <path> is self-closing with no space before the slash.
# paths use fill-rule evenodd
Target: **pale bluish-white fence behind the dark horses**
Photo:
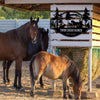
<path id="1" fill-rule="evenodd" d="M 0 32 L 6 32 L 11 29 L 15 29 L 17 27 L 20 27 L 21 25 L 28 22 L 29 19 L 20 19 L 18 21 L 16 20 L 0 20 Z M 43 27 L 45 29 L 50 29 L 50 19 L 40 19 L 38 23 L 39 27 Z"/>

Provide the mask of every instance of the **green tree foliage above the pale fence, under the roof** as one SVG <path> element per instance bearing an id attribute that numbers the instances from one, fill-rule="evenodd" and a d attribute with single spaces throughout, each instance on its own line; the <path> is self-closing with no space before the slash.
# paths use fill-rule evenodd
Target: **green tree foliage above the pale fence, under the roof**
<path id="1" fill-rule="evenodd" d="M 30 17 L 36 18 L 39 16 L 40 18 L 48 19 L 50 18 L 49 11 L 30 11 L 25 12 L 17 9 L 12 9 L 4 6 L 0 6 L 0 17 L 5 19 L 29 19 Z"/>

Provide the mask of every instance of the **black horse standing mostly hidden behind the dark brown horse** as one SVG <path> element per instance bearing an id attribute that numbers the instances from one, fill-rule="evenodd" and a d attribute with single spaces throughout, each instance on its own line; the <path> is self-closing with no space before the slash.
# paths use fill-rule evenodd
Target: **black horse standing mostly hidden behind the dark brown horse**
<path id="1" fill-rule="evenodd" d="M 32 44 L 32 42 L 29 43 L 28 52 L 26 54 L 27 56 L 23 59 L 23 61 L 29 61 L 34 54 L 40 51 L 47 51 L 48 41 L 49 41 L 48 32 L 49 32 L 48 29 L 47 31 L 44 28 L 38 29 L 37 43 L 36 44 Z M 3 62 L 3 81 L 4 83 L 10 82 L 9 68 L 12 62 L 13 60 Z M 40 85 L 41 87 L 43 87 L 42 77 L 40 78 Z"/>

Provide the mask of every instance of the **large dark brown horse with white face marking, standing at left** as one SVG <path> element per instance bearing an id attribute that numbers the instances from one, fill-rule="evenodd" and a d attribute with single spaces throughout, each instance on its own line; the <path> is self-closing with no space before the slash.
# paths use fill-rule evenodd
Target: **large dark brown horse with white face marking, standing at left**
<path id="1" fill-rule="evenodd" d="M 30 18 L 30 22 L 21 27 L 0 33 L 0 60 L 15 60 L 15 80 L 14 87 L 21 88 L 21 66 L 22 60 L 28 51 L 29 42 L 36 42 L 38 33 L 39 18 L 35 21 Z M 17 86 L 17 78 L 18 86 Z"/>

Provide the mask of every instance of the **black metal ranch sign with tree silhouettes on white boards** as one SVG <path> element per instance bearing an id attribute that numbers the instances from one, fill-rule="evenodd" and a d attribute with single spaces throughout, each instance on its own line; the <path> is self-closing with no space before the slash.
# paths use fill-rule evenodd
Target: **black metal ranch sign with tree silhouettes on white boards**
<path id="1" fill-rule="evenodd" d="M 90 12 L 85 8 L 83 12 L 67 11 L 61 13 L 58 8 L 56 8 L 55 14 L 50 20 L 50 27 L 54 29 L 56 33 L 70 37 L 86 33 L 92 29 Z"/>

